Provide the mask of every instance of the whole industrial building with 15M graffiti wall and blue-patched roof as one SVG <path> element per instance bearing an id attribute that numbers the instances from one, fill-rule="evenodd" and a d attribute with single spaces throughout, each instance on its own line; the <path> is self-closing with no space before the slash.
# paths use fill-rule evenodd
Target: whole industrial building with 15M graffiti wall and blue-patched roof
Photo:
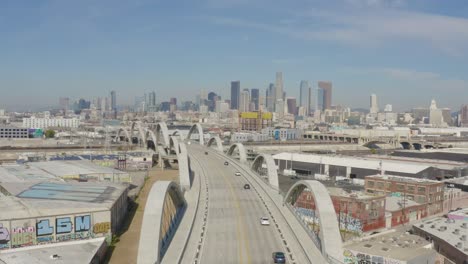
<path id="1" fill-rule="evenodd" d="M 0 183 L 0 250 L 104 237 L 110 243 L 127 213 L 126 185 Z"/>

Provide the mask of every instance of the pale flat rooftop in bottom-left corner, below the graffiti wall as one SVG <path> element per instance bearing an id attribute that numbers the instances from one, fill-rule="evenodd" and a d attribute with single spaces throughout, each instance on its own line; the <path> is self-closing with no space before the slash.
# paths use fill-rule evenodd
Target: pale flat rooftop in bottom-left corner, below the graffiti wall
<path id="1" fill-rule="evenodd" d="M 0 263 L 5 264 L 81 264 L 91 263 L 105 238 L 78 240 L 48 245 L 32 246 L 19 249 L 4 250 L 0 253 Z M 57 259 L 51 256 L 57 254 Z"/>

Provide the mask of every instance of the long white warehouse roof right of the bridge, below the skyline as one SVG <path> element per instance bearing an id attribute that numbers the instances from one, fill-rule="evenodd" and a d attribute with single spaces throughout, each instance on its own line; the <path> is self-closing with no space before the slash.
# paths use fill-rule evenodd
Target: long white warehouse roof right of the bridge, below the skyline
<path id="1" fill-rule="evenodd" d="M 415 164 L 403 161 L 392 161 L 386 160 L 381 162 L 379 159 L 351 157 L 351 156 L 330 156 L 330 155 L 315 155 L 315 154 L 300 154 L 300 153 L 289 153 L 283 152 L 273 155 L 274 159 L 297 161 L 304 163 L 315 163 L 315 164 L 329 164 L 334 166 L 342 167 L 353 167 L 362 168 L 369 170 L 379 170 L 380 164 L 382 163 L 382 169 L 384 171 L 393 171 L 409 174 L 417 174 L 424 171 L 431 166 L 424 164 Z"/>

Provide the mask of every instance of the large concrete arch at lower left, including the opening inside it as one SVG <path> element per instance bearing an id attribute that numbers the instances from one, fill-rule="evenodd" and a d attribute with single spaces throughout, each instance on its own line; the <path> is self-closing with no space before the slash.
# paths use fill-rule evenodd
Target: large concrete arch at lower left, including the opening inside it
<path id="1" fill-rule="evenodd" d="M 156 182 L 148 195 L 138 246 L 138 264 L 161 263 L 186 210 L 179 186 L 172 181 Z"/>

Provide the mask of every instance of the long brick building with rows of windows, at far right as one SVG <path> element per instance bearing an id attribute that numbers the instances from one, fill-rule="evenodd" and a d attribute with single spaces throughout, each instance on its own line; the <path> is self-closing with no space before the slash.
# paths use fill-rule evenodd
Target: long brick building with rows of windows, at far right
<path id="1" fill-rule="evenodd" d="M 442 213 L 444 183 L 391 175 L 373 175 L 365 178 L 366 193 L 401 196 L 426 206 L 427 215 Z"/>

